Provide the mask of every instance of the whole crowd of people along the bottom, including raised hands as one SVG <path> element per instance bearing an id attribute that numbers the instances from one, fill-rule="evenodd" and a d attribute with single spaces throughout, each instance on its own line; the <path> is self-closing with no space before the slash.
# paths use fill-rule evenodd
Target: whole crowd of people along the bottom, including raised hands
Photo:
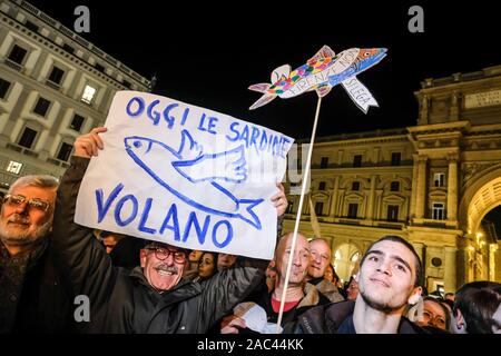
<path id="1" fill-rule="evenodd" d="M 282 186 L 272 197 L 279 218 L 271 261 L 77 225 L 79 186 L 105 131 L 76 140 L 60 182 L 22 177 L 3 197 L 0 333 L 501 333 L 500 284 L 428 294 L 420 257 L 399 236 L 373 243 L 343 283 L 326 240 L 282 235 Z M 77 296 L 89 300 L 86 320 L 76 318 Z"/>

